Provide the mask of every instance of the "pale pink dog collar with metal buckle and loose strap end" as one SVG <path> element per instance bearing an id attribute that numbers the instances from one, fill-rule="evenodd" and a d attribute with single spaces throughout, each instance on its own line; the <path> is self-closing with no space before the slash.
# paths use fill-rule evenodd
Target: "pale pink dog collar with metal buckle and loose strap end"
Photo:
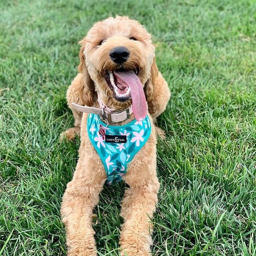
<path id="1" fill-rule="evenodd" d="M 108 122 L 116 123 L 123 122 L 130 118 L 132 111 L 132 106 L 121 111 L 116 111 L 114 108 L 108 108 L 107 105 L 103 104 L 98 94 L 98 102 L 100 108 L 92 108 L 87 106 L 81 106 L 75 103 L 71 103 L 71 106 L 76 111 L 84 113 L 93 113 L 100 116 L 102 119 L 107 119 Z"/>

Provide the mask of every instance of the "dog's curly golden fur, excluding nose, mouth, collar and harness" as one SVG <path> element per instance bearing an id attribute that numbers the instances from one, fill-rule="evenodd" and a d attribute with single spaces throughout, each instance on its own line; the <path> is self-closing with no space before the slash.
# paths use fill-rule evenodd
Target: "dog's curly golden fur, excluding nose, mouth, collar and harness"
<path id="1" fill-rule="evenodd" d="M 136 38 L 137 41 L 131 38 Z M 100 44 L 102 40 L 104 43 Z M 110 50 L 113 47 L 124 46 L 131 54 L 122 64 L 122 68 L 139 69 L 138 77 L 144 86 L 148 116 L 153 124 L 156 117 L 165 110 L 170 92 L 166 81 L 158 72 L 154 46 L 145 28 L 128 17 L 110 17 L 96 23 L 79 43 L 79 74 L 67 91 L 69 107 L 71 108 L 72 102 L 99 107 L 97 93 L 109 108 L 124 109 L 131 105 L 131 99 L 117 100 L 104 78 L 107 70 L 120 67 L 120 64 L 111 60 Z M 87 134 L 87 114 L 79 113 L 72 108 L 71 110 L 75 117 L 75 127 L 65 131 L 63 136 L 72 140 L 75 134 L 80 134 L 81 146 L 73 180 L 67 184 L 63 195 L 61 215 L 67 229 L 68 256 L 94 256 L 97 253 L 91 218 L 107 176 Z M 122 125 L 132 119 L 133 114 L 125 122 L 112 125 Z M 152 125 L 148 141 L 131 160 L 123 177 L 129 188 L 125 191 L 121 209 L 124 219 L 119 241 L 122 256 L 151 255 L 150 218 L 155 210 L 159 189 L 156 174 L 156 130 L 163 134 L 160 128 Z"/>

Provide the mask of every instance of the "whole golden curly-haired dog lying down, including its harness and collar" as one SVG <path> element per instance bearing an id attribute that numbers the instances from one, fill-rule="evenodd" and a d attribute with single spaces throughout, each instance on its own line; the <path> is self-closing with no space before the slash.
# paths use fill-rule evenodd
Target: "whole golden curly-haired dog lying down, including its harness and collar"
<path id="1" fill-rule="evenodd" d="M 80 41 L 79 74 L 67 91 L 81 136 L 76 171 L 67 184 L 61 215 L 69 256 L 97 255 L 93 209 L 104 183 L 124 180 L 122 256 L 151 255 L 151 221 L 157 203 L 157 134 L 154 123 L 170 98 L 158 72 L 151 35 L 136 20 L 110 17 Z"/>

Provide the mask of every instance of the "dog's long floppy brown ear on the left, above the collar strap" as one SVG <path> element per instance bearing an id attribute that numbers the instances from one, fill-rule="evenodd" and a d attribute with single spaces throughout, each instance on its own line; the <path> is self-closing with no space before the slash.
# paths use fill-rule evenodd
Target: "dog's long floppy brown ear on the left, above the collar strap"
<path id="1" fill-rule="evenodd" d="M 84 56 L 84 47 L 86 44 L 85 39 L 79 42 L 81 45 L 81 49 L 79 52 L 79 59 L 80 64 L 78 66 L 79 73 L 82 74 L 82 80 L 79 87 L 79 97 L 84 105 L 91 107 L 93 105 L 93 99 L 96 94 L 94 82 L 91 79 L 86 63 L 85 63 L 85 56 Z"/>

